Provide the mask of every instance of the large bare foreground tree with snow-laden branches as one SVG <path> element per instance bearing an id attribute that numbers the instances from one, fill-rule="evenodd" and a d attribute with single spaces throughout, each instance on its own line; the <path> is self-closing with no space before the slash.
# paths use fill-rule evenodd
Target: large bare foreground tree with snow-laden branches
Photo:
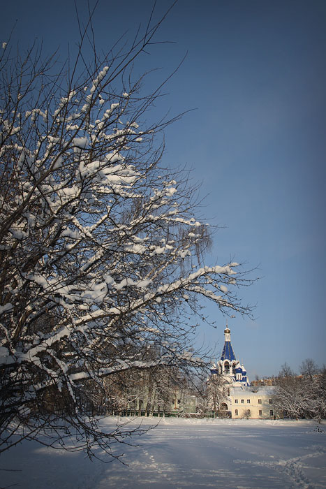
<path id="1" fill-rule="evenodd" d="M 146 118 L 161 87 L 145 95 L 133 82 L 160 22 L 129 48 L 94 48 L 89 64 L 90 23 L 63 67 L 36 47 L 1 54 L 2 450 L 40 435 L 60 446 L 63 424 L 74 450 L 110 453 L 130 432 L 101 432 L 87 382 L 100 391 L 121 372 L 202 365 L 188 348 L 200 298 L 249 312 L 237 263 L 202 263 L 211 231 L 187 175 L 161 166 L 171 121 Z M 161 355 L 149 358 L 153 344 Z"/>

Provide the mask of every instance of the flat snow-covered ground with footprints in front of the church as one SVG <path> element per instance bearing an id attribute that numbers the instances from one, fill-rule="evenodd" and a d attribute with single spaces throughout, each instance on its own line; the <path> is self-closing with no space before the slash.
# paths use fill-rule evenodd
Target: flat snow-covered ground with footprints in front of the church
<path id="1" fill-rule="evenodd" d="M 326 488 L 325 423 L 166 418 L 135 441 L 128 467 L 26 442 L 1 455 L 0 488 Z"/>

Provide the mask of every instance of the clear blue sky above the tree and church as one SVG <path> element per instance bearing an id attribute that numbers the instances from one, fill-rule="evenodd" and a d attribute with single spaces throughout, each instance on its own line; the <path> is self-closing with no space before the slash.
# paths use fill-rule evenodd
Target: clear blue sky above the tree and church
<path id="1" fill-rule="evenodd" d="M 76 0 L 82 18 L 84 0 Z M 151 0 L 102 0 L 94 17 L 99 49 L 147 24 Z M 168 8 L 158 0 L 154 17 Z M 73 0 L 1 2 L 1 43 L 15 20 L 14 41 L 43 40 L 43 51 L 77 40 Z M 206 197 L 202 214 L 226 226 L 211 261 L 245 262 L 262 277 L 241 292 L 255 320 L 229 319 L 232 346 L 249 377 L 277 374 L 286 361 L 326 363 L 325 155 L 326 1 L 179 0 L 156 45 L 137 69 L 161 68 L 168 95 L 151 111 L 188 113 L 165 132 L 164 162 L 193 169 Z M 223 348 L 225 318 L 209 306 L 217 329 L 205 341 Z"/>

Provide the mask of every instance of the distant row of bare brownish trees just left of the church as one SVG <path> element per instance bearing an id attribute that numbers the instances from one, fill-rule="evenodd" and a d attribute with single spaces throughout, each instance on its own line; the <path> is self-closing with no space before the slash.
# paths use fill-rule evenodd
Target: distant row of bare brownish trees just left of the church
<path id="1" fill-rule="evenodd" d="M 84 381 L 79 394 L 82 409 L 93 416 L 165 416 L 171 412 L 188 412 L 188 397 L 195 398 L 195 393 L 200 392 L 195 385 L 194 372 L 155 365 L 161 358 L 159 346 L 145 346 L 143 358 L 153 363 L 153 367 L 117 372 L 105 377 L 101 385 L 93 379 Z"/>

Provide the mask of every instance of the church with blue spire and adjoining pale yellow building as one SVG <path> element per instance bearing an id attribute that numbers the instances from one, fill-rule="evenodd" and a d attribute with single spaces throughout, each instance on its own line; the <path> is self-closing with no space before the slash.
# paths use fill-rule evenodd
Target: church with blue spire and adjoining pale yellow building
<path id="1" fill-rule="evenodd" d="M 214 389 L 213 387 L 216 386 Z M 218 414 L 230 418 L 271 419 L 274 410 L 274 386 L 251 386 L 244 365 L 237 360 L 231 344 L 230 328 L 224 330 L 224 346 L 220 360 L 212 365 L 208 379 L 212 404 Z M 216 411 L 216 406 L 214 406 Z"/>

